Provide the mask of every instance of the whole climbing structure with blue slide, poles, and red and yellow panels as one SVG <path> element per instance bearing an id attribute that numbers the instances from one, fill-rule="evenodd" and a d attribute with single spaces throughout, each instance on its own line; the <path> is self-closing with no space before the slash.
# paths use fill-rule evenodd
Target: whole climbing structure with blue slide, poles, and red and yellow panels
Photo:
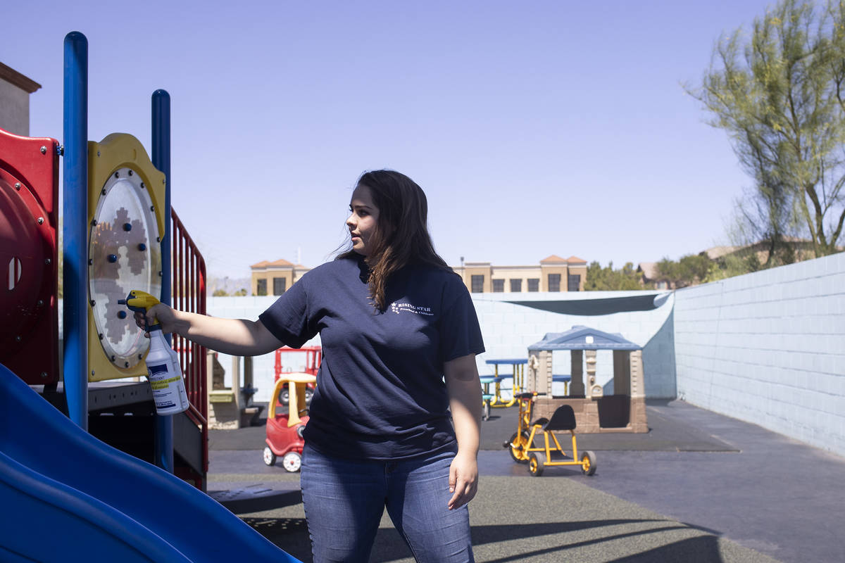
<path id="1" fill-rule="evenodd" d="M 185 413 L 155 415 L 149 383 L 137 381 L 149 344 L 119 295 L 144 290 L 205 312 L 204 261 L 170 208 L 170 97 L 152 96 L 152 159 L 131 135 L 90 142 L 88 41 L 72 32 L 64 47 L 64 147 L 0 130 L 0 505 L 14 514 L 0 559 L 65 560 L 94 546 L 103 560 L 294 562 L 201 492 L 206 350 L 173 338 Z M 51 522 L 50 542 L 35 522 Z"/>

